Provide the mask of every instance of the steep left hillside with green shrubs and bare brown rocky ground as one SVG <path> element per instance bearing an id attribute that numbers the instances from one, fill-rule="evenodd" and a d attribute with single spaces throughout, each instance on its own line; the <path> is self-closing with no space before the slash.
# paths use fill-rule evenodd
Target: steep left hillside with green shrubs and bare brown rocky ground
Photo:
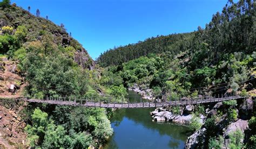
<path id="1" fill-rule="evenodd" d="M 0 109 L 5 101 L 3 97 L 91 98 L 102 94 L 95 62 L 66 32 L 64 25 L 58 26 L 48 17 L 41 17 L 39 10 L 34 16 L 15 3 L 10 5 L 8 0 L 0 3 L 0 70 Z M 10 88 L 11 84 L 14 84 L 14 89 Z M 15 101 L 6 108 L 12 105 Z M 25 122 L 28 135 L 22 146 L 99 147 L 113 132 L 105 109 L 45 104 L 21 107 L 24 110 L 19 121 L 23 121 L 23 131 Z M 14 132 L 13 123 L 8 121 L 8 114 L 1 113 L 0 133 L 5 135 L 1 136 L 0 144 L 4 139 L 11 145 L 20 146 L 15 139 L 18 138 L 19 143 L 22 140 Z"/>

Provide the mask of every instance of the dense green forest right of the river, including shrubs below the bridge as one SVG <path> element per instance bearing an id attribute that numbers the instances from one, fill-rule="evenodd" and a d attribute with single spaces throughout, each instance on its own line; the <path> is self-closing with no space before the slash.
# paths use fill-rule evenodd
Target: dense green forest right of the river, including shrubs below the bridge
<path id="1" fill-rule="evenodd" d="M 160 36 L 144 42 L 120 46 L 104 52 L 97 63 L 104 66 L 100 83 L 105 86 L 153 90 L 153 96 L 179 100 L 183 97 L 215 96 L 218 94 L 256 96 L 256 3 L 251 0 L 228 1 L 205 28 L 191 33 Z M 113 79 L 114 78 L 114 79 Z M 238 118 L 237 101 L 224 102 L 217 116 L 207 118 L 206 145 L 221 148 L 224 139 L 216 134 Z M 204 111 L 199 106 L 199 111 Z M 179 109 L 179 108 L 178 108 Z M 176 112 L 174 108 L 172 112 Z M 231 135 L 230 148 L 255 148 L 255 113 L 251 115 L 251 133 L 240 131 Z M 197 121 L 197 120 L 196 120 Z M 201 128 L 193 123 L 193 130 Z M 245 138 L 244 144 L 240 143 Z"/>

